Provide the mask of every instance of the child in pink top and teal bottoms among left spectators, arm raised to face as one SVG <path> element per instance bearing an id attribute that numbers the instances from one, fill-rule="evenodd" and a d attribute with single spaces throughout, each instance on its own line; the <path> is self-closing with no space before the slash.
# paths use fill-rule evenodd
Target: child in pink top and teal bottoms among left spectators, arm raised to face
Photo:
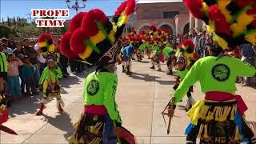
<path id="1" fill-rule="evenodd" d="M 18 77 L 18 66 L 22 65 L 23 62 L 19 58 L 14 58 L 14 54 L 8 54 L 7 86 L 14 100 L 22 98 L 22 91 Z"/>

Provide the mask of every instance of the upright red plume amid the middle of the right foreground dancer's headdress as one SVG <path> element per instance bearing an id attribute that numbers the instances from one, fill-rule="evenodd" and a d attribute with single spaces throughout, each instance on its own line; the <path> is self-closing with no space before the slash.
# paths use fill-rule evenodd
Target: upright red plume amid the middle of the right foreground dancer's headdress
<path id="1" fill-rule="evenodd" d="M 216 32 L 231 35 L 230 25 L 226 22 L 225 16 L 218 9 L 218 5 L 210 6 L 209 10 L 210 20 L 214 21 Z"/>

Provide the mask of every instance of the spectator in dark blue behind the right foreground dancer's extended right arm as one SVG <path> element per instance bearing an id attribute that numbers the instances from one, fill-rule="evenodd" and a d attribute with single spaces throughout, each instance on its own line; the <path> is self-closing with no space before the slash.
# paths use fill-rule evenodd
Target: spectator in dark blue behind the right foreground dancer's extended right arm
<path id="1" fill-rule="evenodd" d="M 247 62 L 252 66 L 254 65 L 255 62 L 255 51 L 253 49 L 253 46 L 250 44 L 244 44 L 240 46 L 241 49 L 241 56 L 242 56 L 242 62 Z M 241 78 L 242 81 L 242 86 L 250 86 L 250 77 L 246 78 Z"/>

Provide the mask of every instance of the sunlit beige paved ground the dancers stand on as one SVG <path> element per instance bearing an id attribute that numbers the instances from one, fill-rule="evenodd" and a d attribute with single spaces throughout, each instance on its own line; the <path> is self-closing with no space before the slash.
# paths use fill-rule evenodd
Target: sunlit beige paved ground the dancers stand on
<path id="1" fill-rule="evenodd" d="M 139 144 L 178 144 L 185 143 L 183 131 L 189 118 L 182 108 L 186 100 L 178 106 L 176 117 L 171 124 L 170 135 L 166 134 L 166 126 L 161 111 L 170 100 L 173 92 L 174 77 L 166 72 L 149 69 L 150 63 L 134 62 L 134 74 L 127 76 L 118 69 L 118 105 L 121 111 L 123 125 L 137 138 Z M 162 65 L 166 70 L 166 66 Z M 10 120 L 5 126 L 10 126 L 18 136 L 1 132 L 0 143 L 68 143 L 66 138 L 74 132 L 74 123 L 82 112 L 83 78 L 86 74 L 72 75 L 63 80 L 62 98 L 66 103 L 65 113 L 59 114 L 55 106 L 56 101 L 49 102 L 44 116 L 35 116 L 39 106 L 39 98 L 26 98 L 22 102 L 14 103 L 10 108 Z M 256 122 L 256 90 L 250 87 L 238 86 L 238 94 L 242 94 L 249 106 L 247 119 Z M 195 99 L 202 98 L 199 85 L 194 87 Z M 166 118 L 168 119 L 168 118 Z"/>

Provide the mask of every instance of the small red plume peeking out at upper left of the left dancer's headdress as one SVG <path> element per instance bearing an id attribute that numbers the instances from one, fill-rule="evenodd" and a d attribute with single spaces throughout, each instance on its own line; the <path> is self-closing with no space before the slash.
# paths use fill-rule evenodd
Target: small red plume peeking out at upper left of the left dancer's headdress
<path id="1" fill-rule="evenodd" d="M 70 32 L 74 32 L 74 30 L 81 26 L 82 18 L 85 14 L 86 12 L 79 12 L 70 20 Z"/>

